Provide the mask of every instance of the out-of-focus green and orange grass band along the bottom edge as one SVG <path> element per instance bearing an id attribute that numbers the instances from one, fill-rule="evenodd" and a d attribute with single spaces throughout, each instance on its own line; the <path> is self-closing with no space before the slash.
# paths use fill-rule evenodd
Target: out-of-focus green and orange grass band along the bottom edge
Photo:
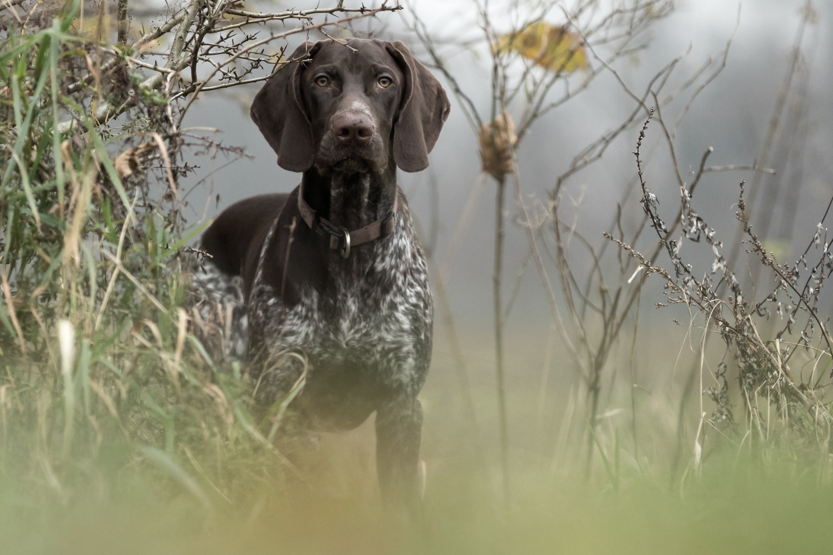
<path id="1" fill-rule="evenodd" d="M 5 476 L 2 553 L 830 553 L 833 546 L 833 488 L 829 468 L 820 468 L 829 462 L 786 451 L 764 461 L 731 444 L 711 453 L 699 476 L 671 487 L 626 463 L 625 453 L 618 492 L 583 468 L 553 477 L 516 460 L 508 513 L 488 478 L 496 468 L 429 458 L 427 533 L 413 538 L 397 533 L 379 506 L 369 434 L 350 435 L 323 442 L 320 475 L 305 472 L 307 484 L 280 484 L 251 459 L 240 461 L 247 468 L 237 470 L 230 499 L 187 461 L 180 467 L 187 478 L 155 464 L 124 467 L 127 446 L 102 450 L 71 492 L 48 495 L 46 483 Z"/>

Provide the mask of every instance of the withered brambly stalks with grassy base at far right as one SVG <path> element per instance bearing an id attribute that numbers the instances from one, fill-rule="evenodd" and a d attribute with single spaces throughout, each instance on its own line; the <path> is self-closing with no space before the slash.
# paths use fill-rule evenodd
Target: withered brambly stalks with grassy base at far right
<path id="1" fill-rule="evenodd" d="M 653 111 L 651 111 L 651 116 L 653 116 Z M 769 434 L 769 418 L 762 417 L 759 408 L 759 399 L 764 399 L 767 414 L 768 405 L 774 404 L 776 414 L 783 420 L 785 426 L 791 426 L 803 437 L 815 442 L 816 427 L 821 425 L 826 429 L 833 424 L 827 404 L 822 401 L 824 389 L 819 387 L 824 374 L 822 372 L 816 377 L 814 366 L 813 372 L 806 379 L 799 379 L 796 378 L 796 374 L 788 363 L 796 349 L 801 346 L 807 353 L 812 353 L 811 359 L 816 359 L 816 364 L 823 357 L 830 357 L 833 352 L 830 334 L 818 313 L 821 288 L 833 271 L 833 265 L 831 265 L 833 255 L 829 251 L 830 245 L 826 242 L 827 230 L 824 227 L 830 204 L 800 260 L 796 261 L 795 265 L 782 265 L 774 255 L 766 252 L 761 241 L 752 231 L 749 216 L 746 213 L 745 182 L 741 181 L 736 217 L 741 221 L 746 234 L 744 243 L 748 245 L 747 252 L 756 255 L 760 264 L 771 270 L 777 283 L 774 290 L 771 290 L 762 300 L 756 300 L 754 291 L 747 293 L 742 290 L 734 273 L 727 270 L 726 259 L 721 254 L 723 244 L 716 240 L 715 230 L 706 225 L 706 222 L 692 209 L 690 188 L 684 183 L 681 186 L 681 216 L 679 216 L 683 236 L 695 242 L 705 238 L 715 255 L 711 273 L 704 272 L 703 277 L 697 278 L 693 266 L 682 260 L 680 245 L 675 240 L 671 240 L 671 230 L 659 216 L 656 195 L 647 188 L 643 179 L 640 148 L 651 116 L 642 126 L 634 153 L 642 188 L 641 203 L 646 215 L 650 218 L 651 227 L 656 230 L 661 245 L 664 246 L 671 259 L 675 275 L 672 277 L 668 271 L 654 265 L 646 256 L 639 254 L 625 242 L 617 240 L 610 234 L 605 234 L 605 236 L 639 260 L 646 273 L 660 275 L 665 280 L 663 295 L 666 296 L 669 304 L 687 305 L 695 314 L 703 315 L 706 331 L 713 325 L 725 342 L 725 352 L 713 376 L 716 386 L 701 392 L 708 395 L 716 404 L 710 420 L 712 425 L 722 426 L 733 423 L 725 361 L 734 359 L 737 366 L 741 403 L 746 409 L 748 421 L 756 424 L 761 430 L 761 421 L 766 420 L 765 427 L 767 435 Z M 706 152 L 707 155 L 708 152 Z M 831 199 L 831 204 L 833 204 L 833 199 Z M 825 243 L 820 250 L 822 236 L 824 236 Z M 819 252 L 819 260 L 808 268 L 806 255 L 813 248 Z M 799 270 L 802 264 L 804 270 L 809 270 L 810 274 L 803 284 L 799 281 Z M 718 271 L 720 271 L 720 279 L 715 281 L 711 275 L 716 275 Z M 723 284 L 728 285 L 726 297 L 719 293 Z M 771 324 L 773 312 L 779 315 L 781 320 L 786 316 L 783 330 L 776 330 L 776 326 Z M 800 313 L 805 323 L 803 327 L 798 328 L 796 315 Z M 798 337 L 788 339 L 789 336 L 796 334 Z M 816 334 L 815 338 L 814 334 Z M 802 415 L 809 415 L 810 418 L 802 418 Z"/>

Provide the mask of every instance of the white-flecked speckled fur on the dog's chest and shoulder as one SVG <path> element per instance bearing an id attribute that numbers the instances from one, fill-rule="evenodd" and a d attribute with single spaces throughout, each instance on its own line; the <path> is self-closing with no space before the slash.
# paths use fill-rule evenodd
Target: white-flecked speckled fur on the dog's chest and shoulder
<path id="1" fill-rule="evenodd" d="M 333 256 L 327 284 L 302 286 L 292 307 L 256 283 L 252 325 L 262 326 L 269 350 L 301 352 L 314 373 L 386 381 L 423 375 L 431 351 L 431 293 L 425 259 L 408 231 L 397 229 L 368 245 L 364 263 Z"/>

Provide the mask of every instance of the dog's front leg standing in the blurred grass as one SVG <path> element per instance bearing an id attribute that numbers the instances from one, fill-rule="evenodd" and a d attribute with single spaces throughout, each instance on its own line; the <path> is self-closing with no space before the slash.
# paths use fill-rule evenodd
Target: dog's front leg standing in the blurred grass
<path id="1" fill-rule="evenodd" d="M 419 518 L 419 450 L 422 405 L 419 399 L 397 399 L 377 409 L 376 463 L 382 501 L 388 508 L 407 508 Z"/>

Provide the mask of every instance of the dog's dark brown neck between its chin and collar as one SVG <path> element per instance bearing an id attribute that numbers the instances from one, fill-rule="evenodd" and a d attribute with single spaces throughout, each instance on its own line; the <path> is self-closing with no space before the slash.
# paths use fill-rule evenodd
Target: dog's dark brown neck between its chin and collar
<path id="1" fill-rule="evenodd" d="M 382 173 L 332 171 L 326 176 L 312 167 L 302 179 L 304 200 L 312 210 L 347 230 L 357 230 L 387 214 L 397 194 L 396 166 Z"/>

